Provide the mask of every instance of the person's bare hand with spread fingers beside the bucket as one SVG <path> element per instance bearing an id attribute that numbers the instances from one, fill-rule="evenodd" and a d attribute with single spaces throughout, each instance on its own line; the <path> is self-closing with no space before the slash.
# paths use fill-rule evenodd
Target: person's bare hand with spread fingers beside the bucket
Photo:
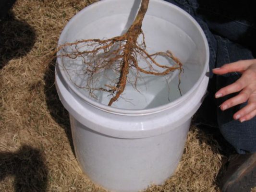
<path id="1" fill-rule="evenodd" d="M 223 75 L 229 72 L 240 72 L 242 76 L 233 84 L 225 86 L 215 94 L 216 98 L 232 93 L 240 92 L 220 105 L 221 110 L 226 110 L 233 106 L 248 101 L 248 104 L 237 111 L 233 118 L 240 120 L 250 120 L 256 116 L 256 59 L 239 60 L 237 62 L 225 64 L 220 68 L 213 69 L 213 73 Z"/>

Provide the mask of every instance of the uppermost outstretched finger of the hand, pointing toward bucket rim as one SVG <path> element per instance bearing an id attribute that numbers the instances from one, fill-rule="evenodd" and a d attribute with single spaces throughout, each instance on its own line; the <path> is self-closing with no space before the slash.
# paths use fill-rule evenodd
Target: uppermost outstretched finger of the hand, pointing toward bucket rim
<path id="1" fill-rule="evenodd" d="M 233 63 L 225 64 L 220 68 L 212 70 L 213 73 L 223 75 L 229 72 L 244 72 L 256 60 L 239 60 Z"/>

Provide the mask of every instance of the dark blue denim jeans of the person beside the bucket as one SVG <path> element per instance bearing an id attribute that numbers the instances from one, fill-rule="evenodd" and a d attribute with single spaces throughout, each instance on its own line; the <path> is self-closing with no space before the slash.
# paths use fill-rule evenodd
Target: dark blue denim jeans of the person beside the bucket
<path id="1" fill-rule="evenodd" d="M 256 118 L 243 123 L 233 120 L 233 114 L 246 103 L 221 111 L 218 106 L 225 96 L 215 99 L 221 87 L 235 82 L 237 72 L 214 75 L 211 70 L 238 60 L 254 59 L 256 56 L 255 5 L 231 0 L 166 0 L 192 15 L 205 32 L 210 48 L 210 81 L 208 96 L 201 108 L 201 122 L 219 127 L 224 138 L 240 154 L 256 152 Z M 254 45 L 255 44 L 255 45 Z M 213 118 L 216 117 L 216 120 Z"/>

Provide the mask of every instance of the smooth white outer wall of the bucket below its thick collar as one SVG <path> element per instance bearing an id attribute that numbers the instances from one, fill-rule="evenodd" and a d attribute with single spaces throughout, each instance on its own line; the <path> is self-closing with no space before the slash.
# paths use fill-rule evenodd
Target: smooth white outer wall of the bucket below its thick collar
<path id="1" fill-rule="evenodd" d="M 122 139 L 95 132 L 72 116 L 70 120 L 81 168 L 94 182 L 118 192 L 137 192 L 170 177 L 180 161 L 191 121 L 154 137 Z"/>

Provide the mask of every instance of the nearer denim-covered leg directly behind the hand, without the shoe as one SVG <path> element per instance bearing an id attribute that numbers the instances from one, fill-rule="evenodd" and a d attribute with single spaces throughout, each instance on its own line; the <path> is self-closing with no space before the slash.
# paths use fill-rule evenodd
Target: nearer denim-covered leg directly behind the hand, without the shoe
<path id="1" fill-rule="evenodd" d="M 237 60 L 253 59 L 253 55 L 250 50 L 221 37 L 218 37 L 217 41 L 217 67 Z M 239 79 L 240 76 L 241 75 L 236 72 L 217 76 L 217 90 L 221 87 L 232 84 Z M 217 99 L 217 105 L 219 106 L 225 100 L 234 95 L 236 94 Z M 225 111 L 218 109 L 218 124 L 220 132 L 225 139 L 234 146 L 239 154 L 256 152 L 256 118 L 243 123 L 238 120 L 233 120 L 233 114 L 245 105 L 246 103 Z"/>

